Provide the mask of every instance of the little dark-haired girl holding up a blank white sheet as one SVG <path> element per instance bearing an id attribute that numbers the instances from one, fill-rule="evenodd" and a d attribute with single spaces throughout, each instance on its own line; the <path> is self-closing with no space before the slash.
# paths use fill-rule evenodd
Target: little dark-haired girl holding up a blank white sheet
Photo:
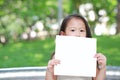
<path id="1" fill-rule="evenodd" d="M 61 25 L 59 35 L 77 36 L 91 38 L 91 32 L 87 21 L 80 15 L 73 14 L 67 16 Z M 105 80 L 106 77 L 106 57 L 97 53 L 94 57 L 97 58 L 96 77 L 76 77 L 76 76 L 56 76 L 54 75 L 54 66 L 60 64 L 60 60 L 54 58 L 48 62 L 45 80 Z"/>

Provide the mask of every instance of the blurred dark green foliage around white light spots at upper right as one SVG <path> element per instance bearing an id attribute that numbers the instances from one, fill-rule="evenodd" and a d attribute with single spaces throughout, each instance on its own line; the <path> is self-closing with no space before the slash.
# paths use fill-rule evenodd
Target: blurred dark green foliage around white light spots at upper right
<path id="1" fill-rule="evenodd" d="M 73 13 L 79 13 L 79 6 L 82 4 L 86 3 L 91 3 L 93 5 L 93 9 L 95 12 L 95 21 L 89 21 L 91 25 L 92 31 L 94 30 L 95 23 L 100 21 L 101 15 L 100 10 L 105 10 L 106 15 L 108 16 L 109 21 L 107 25 L 111 25 L 113 23 L 116 23 L 116 6 L 117 6 L 117 1 L 116 0 L 72 0 L 72 11 Z M 89 7 L 88 7 L 89 8 Z M 87 13 L 88 14 L 88 13 Z M 86 16 L 88 18 L 88 16 Z"/>

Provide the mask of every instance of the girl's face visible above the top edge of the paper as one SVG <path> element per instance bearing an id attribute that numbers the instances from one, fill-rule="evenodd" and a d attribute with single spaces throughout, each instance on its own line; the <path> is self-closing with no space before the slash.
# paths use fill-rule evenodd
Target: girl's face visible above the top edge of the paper
<path id="1" fill-rule="evenodd" d="M 65 32 L 61 32 L 61 35 L 86 37 L 86 27 L 82 20 L 72 18 L 67 26 Z"/>

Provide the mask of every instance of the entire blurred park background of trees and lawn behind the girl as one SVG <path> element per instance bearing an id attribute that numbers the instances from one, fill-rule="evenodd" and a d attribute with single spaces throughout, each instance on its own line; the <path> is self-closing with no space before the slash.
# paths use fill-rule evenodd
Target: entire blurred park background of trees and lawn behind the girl
<path id="1" fill-rule="evenodd" d="M 120 0 L 0 0 L 0 68 L 46 66 L 62 19 L 80 14 L 108 66 L 120 66 Z"/>

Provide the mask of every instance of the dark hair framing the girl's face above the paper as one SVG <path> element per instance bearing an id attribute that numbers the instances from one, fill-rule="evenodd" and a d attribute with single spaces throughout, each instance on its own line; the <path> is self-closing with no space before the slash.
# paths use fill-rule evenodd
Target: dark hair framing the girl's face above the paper
<path id="1" fill-rule="evenodd" d="M 72 19 L 72 18 L 76 18 L 76 19 L 81 19 L 84 24 L 85 24 L 85 27 L 86 27 L 86 37 L 92 37 L 91 35 L 91 31 L 90 31 L 90 27 L 88 25 L 88 22 L 85 20 L 84 17 L 82 17 L 81 15 L 78 15 L 78 14 L 72 14 L 72 15 L 69 15 L 67 17 L 64 18 L 64 20 L 62 21 L 62 24 L 60 26 L 60 31 L 59 31 L 59 34 L 61 31 L 65 32 L 65 29 L 67 27 L 67 24 L 69 23 L 69 21 Z"/>

